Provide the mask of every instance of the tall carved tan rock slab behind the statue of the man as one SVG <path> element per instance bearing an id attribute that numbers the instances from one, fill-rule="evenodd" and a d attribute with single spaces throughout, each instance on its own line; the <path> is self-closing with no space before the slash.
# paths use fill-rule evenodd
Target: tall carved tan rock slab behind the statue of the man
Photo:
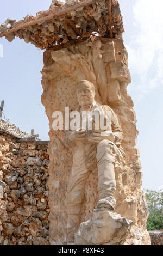
<path id="1" fill-rule="evenodd" d="M 72 166 L 72 152 L 66 147 L 65 132 L 54 131 L 54 111 L 64 113 L 78 106 L 76 84 L 89 80 L 96 88 L 96 101 L 109 105 L 120 119 L 123 130 L 122 147 L 126 165 L 116 166 L 116 213 L 133 221 L 124 245 L 150 245 L 146 229 L 148 209 L 141 190 L 142 172 L 139 150 L 135 148 L 137 129 L 133 101 L 127 93 L 130 74 L 127 51 L 120 39 L 97 38 L 94 42 L 73 41 L 65 47 L 47 50 L 43 55 L 42 103 L 49 119 L 48 148 L 50 237 L 52 245 L 67 242 L 67 210 L 65 194 Z M 98 175 L 90 173 L 85 186 L 82 222 L 93 216 L 98 198 Z"/>

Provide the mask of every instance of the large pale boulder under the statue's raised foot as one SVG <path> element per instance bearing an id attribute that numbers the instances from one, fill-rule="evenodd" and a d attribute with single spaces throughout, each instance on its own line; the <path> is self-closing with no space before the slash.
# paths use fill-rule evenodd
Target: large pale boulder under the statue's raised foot
<path id="1" fill-rule="evenodd" d="M 75 234 L 75 245 L 123 245 L 132 221 L 104 208 L 80 224 Z"/>

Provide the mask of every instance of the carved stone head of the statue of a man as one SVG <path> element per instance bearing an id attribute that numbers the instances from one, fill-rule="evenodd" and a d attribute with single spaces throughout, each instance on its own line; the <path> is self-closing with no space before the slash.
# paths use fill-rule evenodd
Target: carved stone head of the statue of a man
<path id="1" fill-rule="evenodd" d="M 82 80 L 77 84 L 76 92 L 80 106 L 91 105 L 95 101 L 95 86 L 87 80 Z"/>

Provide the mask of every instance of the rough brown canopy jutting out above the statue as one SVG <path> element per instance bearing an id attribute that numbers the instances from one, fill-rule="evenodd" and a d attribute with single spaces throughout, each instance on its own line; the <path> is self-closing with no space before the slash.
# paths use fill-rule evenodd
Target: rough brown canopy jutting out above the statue
<path id="1" fill-rule="evenodd" d="M 0 26 L 0 37 L 5 36 L 11 42 L 18 36 L 37 48 L 49 49 L 72 39 L 87 40 L 95 33 L 120 38 L 124 32 L 117 0 L 67 0 L 66 4 L 58 0 L 52 2 L 49 10 L 40 11 L 36 17 L 27 15 L 18 22 L 7 19 Z"/>

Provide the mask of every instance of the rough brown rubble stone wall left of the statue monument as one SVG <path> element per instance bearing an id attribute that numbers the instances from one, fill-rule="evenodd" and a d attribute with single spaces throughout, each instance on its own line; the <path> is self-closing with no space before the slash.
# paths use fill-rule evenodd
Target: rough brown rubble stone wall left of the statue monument
<path id="1" fill-rule="evenodd" d="M 1 130 L 0 242 L 4 245 L 9 238 L 10 245 L 49 245 L 47 147 L 48 142 L 31 138 L 20 142 Z"/>

